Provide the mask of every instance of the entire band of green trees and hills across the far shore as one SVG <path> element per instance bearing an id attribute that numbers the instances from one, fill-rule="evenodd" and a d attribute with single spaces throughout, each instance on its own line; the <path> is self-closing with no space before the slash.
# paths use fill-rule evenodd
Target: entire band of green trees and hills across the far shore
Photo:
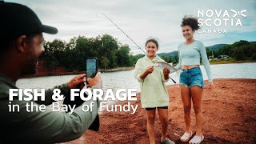
<path id="1" fill-rule="evenodd" d="M 96 38 L 86 38 L 78 36 L 65 42 L 54 39 L 52 42 L 44 42 L 45 53 L 42 60 L 48 69 L 55 66 L 62 66 L 67 71 L 86 70 L 86 58 L 97 57 L 100 69 L 112 69 L 116 67 L 134 66 L 138 58 L 144 54 L 130 54 L 130 47 L 122 45 L 117 39 L 109 34 L 104 34 Z M 256 45 L 244 40 L 225 45 L 215 50 L 206 47 L 208 58 L 221 58 L 221 55 L 228 55 L 236 60 L 252 59 L 256 60 Z M 166 62 L 178 62 L 178 51 L 158 54 Z M 214 59 L 212 58 L 212 59 Z"/>

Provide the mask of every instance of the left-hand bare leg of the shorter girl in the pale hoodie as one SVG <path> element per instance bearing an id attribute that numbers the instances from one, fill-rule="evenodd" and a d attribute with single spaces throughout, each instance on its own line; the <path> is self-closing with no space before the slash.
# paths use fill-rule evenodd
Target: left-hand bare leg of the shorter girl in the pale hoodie
<path id="1" fill-rule="evenodd" d="M 154 121 L 155 121 L 156 110 L 146 110 L 147 117 L 147 133 L 150 137 L 150 144 L 154 144 Z"/>

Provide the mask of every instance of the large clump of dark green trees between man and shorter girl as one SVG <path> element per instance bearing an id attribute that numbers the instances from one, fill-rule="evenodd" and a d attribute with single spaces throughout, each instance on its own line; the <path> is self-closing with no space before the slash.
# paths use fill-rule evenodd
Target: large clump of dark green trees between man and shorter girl
<path id="1" fill-rule="evenodd" d="M 70 42 L 54 39 L 44 42 L 45 53 L 42 60 L 48 68 L 63 66 L 67 71 L 86 70 L 86 58 L 97 57 L 100 69 L 134 66 L 143 54 L 132 55 L 128 45 L 122 45 L 109 34 L 96 38 L 78 36 L 71 38 Z"/>

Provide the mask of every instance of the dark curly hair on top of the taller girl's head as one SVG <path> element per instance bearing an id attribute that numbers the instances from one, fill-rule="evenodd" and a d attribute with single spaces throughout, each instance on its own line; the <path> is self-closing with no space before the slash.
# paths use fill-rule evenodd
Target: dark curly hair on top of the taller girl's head
<path id="1" fill-rule="evenodd" d="M 198 26 L 198 24 L 198 18 L 193 18 L 185 15 L 184 18 L 182 18 L 181 26 L 190 26 L 192 30 L 198 30 L 200 29 L 200 26 Z"/>

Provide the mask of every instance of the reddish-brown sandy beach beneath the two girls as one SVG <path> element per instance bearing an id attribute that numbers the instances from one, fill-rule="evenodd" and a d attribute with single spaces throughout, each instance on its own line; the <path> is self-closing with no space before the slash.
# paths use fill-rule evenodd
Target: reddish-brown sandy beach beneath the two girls
<path id="1" fill-rule="evenodd" d="M 207 82 L 205 82 L 207 85 Z M 204 89 L 202 97 L 202 143 L 256 143 L 256 79 L 214 79 L 214 90 Z M 170 96 L 167 137 L 176 143 L 185 130 L 182 100 L 178 85 L 167 86 Z M 135 114 L 107 112 L 100 114 L 100 130 L 88 130 L 81 138 L 66 143 L 149 143 L 146 111 L 138 101 Z M 126 104 L 127 102 L 118 102 Z M 195 130 L 194 110 L 191 111 Z M 195 132 L 195 131 L 194 131 Z M 156 117 L 155 139 L 160 143 L 161 125 Z"/>

